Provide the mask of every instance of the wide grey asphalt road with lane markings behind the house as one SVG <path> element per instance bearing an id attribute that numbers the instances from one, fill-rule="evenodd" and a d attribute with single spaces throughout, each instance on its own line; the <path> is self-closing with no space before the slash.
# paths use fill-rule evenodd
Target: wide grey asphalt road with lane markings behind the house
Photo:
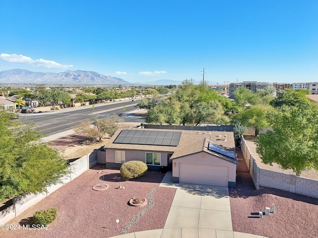
<path id="1" fill-rule="evenodd" d="M 78 125 L 81 121 L 95 118 L 107 118 L 114 114 L 120 116 L 123 122 L 144 122 L 145 119 L 139 116 L 133 116 L 130 112 L 137 110 L 138 101 L 125 101 L 106 104 L 96 104 L 94 108 L 92 105 L 82 106 L 79 108 L 68 108 L 57 110 L 55 112 L 24 114 L 20 119 L 22 123 L 34 121 L 38 128 L 44 131 L 47 135 L 57 134 Z M 124 114 L 125 116 L 121 116 Z"/>

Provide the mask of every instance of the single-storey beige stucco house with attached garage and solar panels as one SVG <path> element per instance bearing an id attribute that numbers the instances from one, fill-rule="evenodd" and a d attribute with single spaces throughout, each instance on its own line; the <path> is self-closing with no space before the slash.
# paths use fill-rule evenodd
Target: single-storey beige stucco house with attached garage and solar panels
<path id="1" fill-rule="evenodd" d="M 106 162 L 106 168 L 139 160 L 149 170 L 172 171 L 176 183 L 236 187 L 239 163 L 231 131 L 117 130 L 104 149 L 99 162 Z"/>

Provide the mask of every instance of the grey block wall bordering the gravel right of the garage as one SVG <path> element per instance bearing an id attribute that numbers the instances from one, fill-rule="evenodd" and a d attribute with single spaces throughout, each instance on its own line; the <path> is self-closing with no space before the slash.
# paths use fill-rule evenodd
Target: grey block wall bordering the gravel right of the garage
<path id="1" fill-rule="evenodd" d="M 259 186 L 272 187 L 318 198 L 318 180 L 261 169 L 250 153 L 243 136 L 240 145 L 244 158 L 250 159 L 249 174 L 253 179 L 256 189 L 259 189 Z"/>

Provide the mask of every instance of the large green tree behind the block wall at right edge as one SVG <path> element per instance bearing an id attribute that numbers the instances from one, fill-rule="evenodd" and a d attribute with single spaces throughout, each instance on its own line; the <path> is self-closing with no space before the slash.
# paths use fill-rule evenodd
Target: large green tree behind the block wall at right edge
<path id="1" fill-rule="evenodd" d="M 273 130 L 256 139 L 256 151 L 263 163 L 277 163 L 297 176 L 312 168 L 318 171 L 318 111 L 291 106 L 267 118 Z"/>

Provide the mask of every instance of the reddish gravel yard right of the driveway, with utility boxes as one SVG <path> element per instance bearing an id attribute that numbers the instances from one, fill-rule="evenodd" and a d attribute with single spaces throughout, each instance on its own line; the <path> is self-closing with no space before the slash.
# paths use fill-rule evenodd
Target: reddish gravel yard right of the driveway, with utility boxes
<path id="1" fill-rule="evenodd" d="M 318 238 L 318 199 L 275 188 L 256 190 L 248 173 L 238 173 L 229 189 L 233 230 L 268 238 Z M 276 212 L 258 217 L 275 204 Z"/>

